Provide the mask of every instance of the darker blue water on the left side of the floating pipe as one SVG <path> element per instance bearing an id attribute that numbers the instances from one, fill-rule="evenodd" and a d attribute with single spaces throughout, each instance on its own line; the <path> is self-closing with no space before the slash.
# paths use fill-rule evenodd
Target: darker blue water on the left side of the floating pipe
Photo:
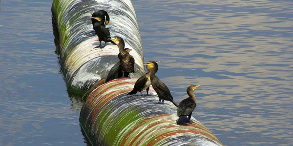
<path id="1" fill-rule="evenodd" d="M 54 53 L 52 0 L 0 3 L 0 145 L 81 146 Z"/>

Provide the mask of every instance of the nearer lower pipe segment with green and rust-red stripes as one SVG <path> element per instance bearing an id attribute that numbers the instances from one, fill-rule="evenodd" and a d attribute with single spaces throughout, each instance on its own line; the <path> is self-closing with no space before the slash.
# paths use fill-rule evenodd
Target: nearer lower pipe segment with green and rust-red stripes
<path id="1" fill-rule="evenodd" d="M 152 86 L 150 96 L 127 95 L 136 80 L 115 79 L 87 98 L 80 121 L 95 146 L 222 146 L 193 117 L 192 124 L 177 125 L 176 107 L 168 101 L 156 104 Z"/>

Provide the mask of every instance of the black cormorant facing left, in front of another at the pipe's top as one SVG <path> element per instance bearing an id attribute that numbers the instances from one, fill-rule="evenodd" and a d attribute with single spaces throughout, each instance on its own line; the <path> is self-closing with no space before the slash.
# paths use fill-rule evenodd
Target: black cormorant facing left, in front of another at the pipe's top
<path id="1" fill-rule="evenodd" d="M 96 34 L 99 37 L 100 45 L 95 47 L 95 48 L 98 48 L 98 47 L 104 48 L 106 46 L 106 42 L 109 42 L 108 36 L 110 36 L 110 32 L 105 28 L 105 26 L 102 25 L 103 24 L 102 23 L 103 19 L 101 17 L 92 17 L 91 19 L 97 20 L 94 23 L 94 28 L 95 28 Z M 105 42 L 104 46 L 101 46 L 102 41 Z"/>

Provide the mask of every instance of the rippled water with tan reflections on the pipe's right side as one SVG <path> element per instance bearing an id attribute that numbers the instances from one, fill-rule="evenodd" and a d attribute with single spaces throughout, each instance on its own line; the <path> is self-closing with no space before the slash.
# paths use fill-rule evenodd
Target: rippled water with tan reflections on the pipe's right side
<path id="1" fill-rule="evenodd" d="M 155 4 L 154 4 L 155 3 Z M 195 116 L 228 146 L 290 145 L 292 1 L 136 1 L 145 60 L 176 102 L 190 84 Z"/>

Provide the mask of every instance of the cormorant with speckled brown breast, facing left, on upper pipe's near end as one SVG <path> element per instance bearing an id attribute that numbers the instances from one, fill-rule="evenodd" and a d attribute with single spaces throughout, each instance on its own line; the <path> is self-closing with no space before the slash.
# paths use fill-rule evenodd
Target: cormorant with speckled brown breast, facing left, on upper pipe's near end
<path id="1" fill-rule="evenodd" d="M 118 58 L 120 60 L 120 67 L 122 70 L 122 78 L 128 77 L 126 76 L 127 73 L 135 73 L 134 71 L 134 58 L 124 50 L 125 42 L 121 37 L 112 37 L 113 39 L 109 39 L 113 41 L 119 48 Z"/>

